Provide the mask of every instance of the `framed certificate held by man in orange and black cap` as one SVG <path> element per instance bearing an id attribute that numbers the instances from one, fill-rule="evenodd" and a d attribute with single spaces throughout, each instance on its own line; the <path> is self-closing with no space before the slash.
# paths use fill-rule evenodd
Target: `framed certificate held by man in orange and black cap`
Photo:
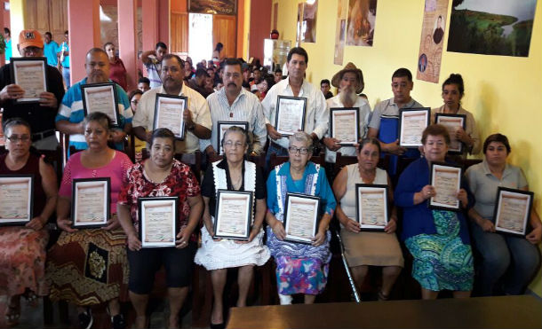
<path id="1" fill-rule="evenodd" d="M 20 85 L 25 94 L 18 103 L 39 102 L 39 95 L 47 91 L 47 59 L 44 57 L 12 57 L 12 82 Z"/>

